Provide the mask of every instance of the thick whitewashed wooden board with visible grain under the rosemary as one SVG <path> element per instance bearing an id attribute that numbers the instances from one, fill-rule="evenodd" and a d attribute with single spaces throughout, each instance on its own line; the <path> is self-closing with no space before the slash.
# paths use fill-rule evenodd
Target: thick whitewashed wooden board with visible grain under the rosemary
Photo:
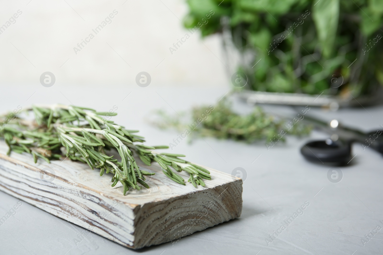
<path id="1" fill-rule="evenodd" d="M 208 168 L 212 180 L 195 188 L 176 184 L 159 166 L 139 164 L 156 173 L 147 177 L 150 188 L 123 196 L 122 185 L 110 186 L 112 175 L 100 177 L 87 164 L 34 164 L 29 154 L 6 151 L 0 141 L 0 190 L 129 248 L 177 240 L 241 215 L 242 180 L 214 169 Z"/>

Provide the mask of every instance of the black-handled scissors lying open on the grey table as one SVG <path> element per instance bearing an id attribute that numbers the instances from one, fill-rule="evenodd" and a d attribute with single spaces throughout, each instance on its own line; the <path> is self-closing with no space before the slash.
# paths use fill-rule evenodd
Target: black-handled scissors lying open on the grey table
<path id="1" fill-rule="evenodd" d="M 331 135 L 329 139 L 310 141 L 302 146 L 301 154 L 308 161 L 345 164 L 351 158 L 351 145 L 354 142 L 361 143 L 363 149 L 372 148 L 383 155 L 383 127 L 364 133 L 343 127 L 336 119 L 329 123 L 307 115 L 304 119 L 314 124 L 317 129 Z"/>

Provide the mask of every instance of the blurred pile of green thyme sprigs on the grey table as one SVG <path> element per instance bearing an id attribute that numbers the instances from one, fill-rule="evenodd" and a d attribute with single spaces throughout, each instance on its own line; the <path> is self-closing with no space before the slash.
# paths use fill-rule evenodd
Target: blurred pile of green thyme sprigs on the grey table
<path id="1" fill-rule="evenodd" d="M 191 110 L 191 123 L 206 115 L 207 106 L 194 107 Z M 190 130 L 191 125 L 182 123 L 179 116 L 167 115 L 164 111 L 157 111 L 160 120 L 152 122 L 155 126 L 166 129 L 175 128 L 178 131 Z M 213 136 L 220 139 L 233 139 L 252 143 L 258 140 L 266 140 L 270 142 L 275 136 L 279 135 L 281 130 L 286 130 L 290 135 L 306 135 L 311 132 L 312 127 L 302 123 L 295 123 L 290 129 L 283 128 L 285 120 L 276 120 L 260 107 L 247 115 L 237 114 L 232 110 L 231 102 L 226 97 L 221 99 L 218 104 L 211 110 L 210 114 L 200 121 L 194 128 L 193 132 L 196 136 Z M 284 141 L 282 137 L 280 140 Z"/>

